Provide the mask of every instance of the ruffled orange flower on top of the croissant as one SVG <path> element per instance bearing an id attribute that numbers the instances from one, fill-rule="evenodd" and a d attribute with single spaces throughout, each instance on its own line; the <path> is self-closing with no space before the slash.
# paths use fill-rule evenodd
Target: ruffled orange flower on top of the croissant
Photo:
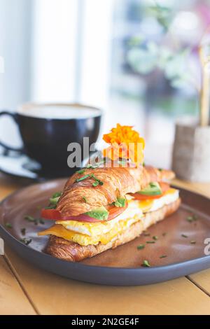
<path id="1" fill-rule="evenodd" d="M 137 166 L 144 161 L 144 139 L 133 130 L 132 126 L 121 126 L 118 123 L 109 134 L 104 134 L 103 139 L 111 144 L 109 148 L 104 149 L 104 157 L 113 161 L 131 160 Z"/>

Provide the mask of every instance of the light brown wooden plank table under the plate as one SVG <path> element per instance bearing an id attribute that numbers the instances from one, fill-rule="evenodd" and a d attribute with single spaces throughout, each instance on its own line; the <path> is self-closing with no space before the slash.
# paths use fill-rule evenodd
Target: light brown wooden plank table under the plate
<path id="1" fill-rule="evenodd" d="M 210 183 L 176 185 L 210 197 Z M 0 199 L 22 186 L 0 176 Z M 6 246 L 0 256 L 0 314 L 210 314 L 210 269 L 151 286 L 82 283 L 30 265 Z"/>

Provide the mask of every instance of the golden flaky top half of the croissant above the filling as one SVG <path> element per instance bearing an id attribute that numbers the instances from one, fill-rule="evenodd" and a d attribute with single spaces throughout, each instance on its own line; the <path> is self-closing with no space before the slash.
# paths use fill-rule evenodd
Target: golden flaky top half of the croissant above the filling
<path id="1" fill-rule="evenodd" d="M 89 176 L 82 181 L 76 181 L 86 175 Z M 94 178 L 101 181 L 103 185 L 92 186 Z M 136 193 L 151 181 L 173 178 L 173 172 L 149 166 L 85 169 L 83 174 L 77 172 L 66 182 L 64 192 L 57 204 L 57 210 L 64 216 L 77 216 L 97 207 L 111 204 L 120 195 Z"/>

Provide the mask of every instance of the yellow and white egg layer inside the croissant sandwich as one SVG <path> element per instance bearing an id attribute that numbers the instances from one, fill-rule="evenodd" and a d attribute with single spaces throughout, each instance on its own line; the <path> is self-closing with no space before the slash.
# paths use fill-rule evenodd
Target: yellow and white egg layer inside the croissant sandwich
<path id="1" fill-rule="evenodd" d="M 144 214 L 155 211 L 179 198 L 179 190 L 170 188 L 165 195 L 154 200 L 128 200 L 128 207 L 118 217 L 111 221 L 85 223 L 80 221 L 56 221 L 55 225 L 39 235 L 55 235 L 76 242 L 82 246 L 88 244 L 107 244 L 130 228 L 137 221 L 144 220 Z"/>

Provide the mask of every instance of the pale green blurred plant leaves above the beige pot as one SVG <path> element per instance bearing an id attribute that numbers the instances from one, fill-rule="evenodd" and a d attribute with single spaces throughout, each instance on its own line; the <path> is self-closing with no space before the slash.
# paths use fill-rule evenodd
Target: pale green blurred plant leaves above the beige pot
<path id="1" fill-rule="evenodd" d="M 174 11 L 155 3 L 154 6 L 147 8 L 147 13 L 157 20 L 162 27 L 162 33 L 167 34 L 170 22 L 174 17 Z M 190 48 L 179 47 L 178 50 L 174 50 L 167 45 L 160 45 L 155 41 L 146 40 L 143 35 L 131 38 L 129 46 L 127 62 L 133 71 L 148 75 L 155 69 L 159 69 L 174 88 L 193 85 L 192 76 L 186 69 Z"/>

